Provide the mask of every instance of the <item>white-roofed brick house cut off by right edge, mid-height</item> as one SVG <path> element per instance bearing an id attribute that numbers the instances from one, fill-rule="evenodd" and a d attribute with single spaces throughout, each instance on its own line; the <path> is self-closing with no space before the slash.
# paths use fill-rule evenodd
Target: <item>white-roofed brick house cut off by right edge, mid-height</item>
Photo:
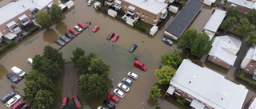
<path id="1" fill-rule="evenodd" d="M 256 50 L 255 48 L 250 48 L 243 58 L 241 63 L 241 68 L 249 74 L 254 75 L 254 80 L 256 80 Z"/>

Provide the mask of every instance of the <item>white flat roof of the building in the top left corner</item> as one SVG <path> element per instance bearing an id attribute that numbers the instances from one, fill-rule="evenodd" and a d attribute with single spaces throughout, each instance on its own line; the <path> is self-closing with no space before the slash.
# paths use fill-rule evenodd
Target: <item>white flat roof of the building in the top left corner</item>
<path id="1" fill-rule="evenodd" d="M 5 15 L 5 17 L 0 18 L 0 25 L 22 14 L 26 10 L 33 10 L 34 8 L 42 10 L 43 7 L 47 6 L 52 1 L 53 0 L 18 0 L 17 2 L 10 2 L 0 9 L 0 14 Z"/>

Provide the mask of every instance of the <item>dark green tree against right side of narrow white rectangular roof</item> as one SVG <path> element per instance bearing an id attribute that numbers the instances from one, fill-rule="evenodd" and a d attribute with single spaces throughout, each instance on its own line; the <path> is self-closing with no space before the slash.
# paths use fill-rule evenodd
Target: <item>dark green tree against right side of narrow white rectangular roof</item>
<path id="1" fill-rule="evenodd" d="M 223 22 L 222 25 L 219 27 L 220 29 L 223 29 L 226 33 L 227 30 L 232 29 L 234 25 L 237 23 L 237 19 L 234 17 L 229 17 L 226 18 Z"/>

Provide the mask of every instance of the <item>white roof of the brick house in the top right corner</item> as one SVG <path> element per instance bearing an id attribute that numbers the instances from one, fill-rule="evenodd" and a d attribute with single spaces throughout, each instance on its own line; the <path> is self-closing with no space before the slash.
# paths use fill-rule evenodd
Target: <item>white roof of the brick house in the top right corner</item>
<path id="1" fill-rule="evenodd" d="M 239 6 L 244 6 L 244 7 L 249 8 L 249 9 L 256 8 L 254 2 L 250 2 L 250 1 L 247 1 L 247 0 L 227 0 L 227 2 L 232 2 L 234 4 L 237 4 Z"/>

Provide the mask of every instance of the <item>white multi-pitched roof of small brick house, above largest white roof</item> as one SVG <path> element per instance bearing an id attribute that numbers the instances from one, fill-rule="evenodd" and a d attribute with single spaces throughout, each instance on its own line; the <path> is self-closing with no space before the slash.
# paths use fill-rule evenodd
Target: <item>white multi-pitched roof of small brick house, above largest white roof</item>
<path id="1" fill-rule="evenodd" d="M 215 40 L 210 49 L 210 56 L 217 56 L 228 64 L 233 65 L 236 60 L 242 41 L 238 41 L 233 37 L 220 36 L 215 37 Z"/>

